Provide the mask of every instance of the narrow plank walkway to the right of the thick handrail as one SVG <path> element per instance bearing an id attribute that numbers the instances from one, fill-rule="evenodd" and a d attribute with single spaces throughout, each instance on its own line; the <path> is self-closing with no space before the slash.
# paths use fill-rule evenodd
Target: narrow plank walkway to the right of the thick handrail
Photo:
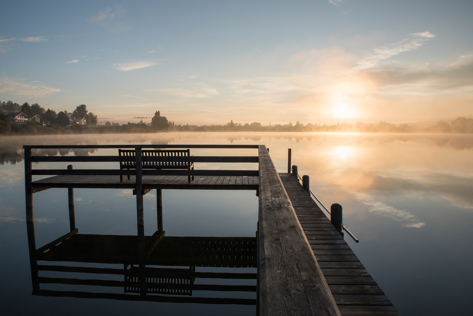
<path id="1" fill-rule="evenodd" d="M 342 316 L 400 315 L 292 173 L 279 173 Z"/>

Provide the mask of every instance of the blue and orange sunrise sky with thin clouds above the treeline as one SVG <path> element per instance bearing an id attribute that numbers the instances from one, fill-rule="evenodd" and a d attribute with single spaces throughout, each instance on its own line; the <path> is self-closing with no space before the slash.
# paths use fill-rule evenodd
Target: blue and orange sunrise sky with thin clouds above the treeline
<path id="1" fill-rule="evenodd" d="M 0 1 L 1 101 L 122 123 L 473 115 L 471 0 Z"/>

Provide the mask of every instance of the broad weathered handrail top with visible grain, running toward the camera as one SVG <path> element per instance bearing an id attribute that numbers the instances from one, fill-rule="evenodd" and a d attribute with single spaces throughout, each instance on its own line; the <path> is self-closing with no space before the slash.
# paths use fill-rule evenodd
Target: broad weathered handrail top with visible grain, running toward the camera
<path id="1" fill-rule="evenodd" d="M 340 315 L 266 146 L 259 157 L 259 315 Z"/>

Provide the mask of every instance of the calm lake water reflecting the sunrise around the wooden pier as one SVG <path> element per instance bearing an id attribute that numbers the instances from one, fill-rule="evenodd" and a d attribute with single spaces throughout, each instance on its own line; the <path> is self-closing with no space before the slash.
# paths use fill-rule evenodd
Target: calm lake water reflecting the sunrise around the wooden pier
<path id="1" fill-rule="evenodd" d="M 254 306 L 31 295 L 24 144 L 265 144 L 279 172 L 287 172 L 287 151 L 292 148 L 292 164 L 298 165 L 300 175 L 310 176 L 317 197 L 327 207 L 332 203 L 343 206 L 343 223 L 360 242 L 356 244 L 347 234 L 345 240 L 403 316 L 472 314 L 473 135 L 166 133 L 0 138 L 3 315 L 254 315 Z M 108 155 L 116 150 L 34 154 Z M 191 149 L 191 154 L 257 155 L 257 150 Z M 41 163 L 33 168 L 65 169 L 67 163 L 62 164 Z M 105 167 L 74 163 L 74 169 L 86 165 Z M 106 168 L 118 168 L 118 163 Z M 196 163 L 195 168 L 256 170 L 257 163 Z M 75 189 L 74 193 L 80 234 L 136 235 L 136 199 L 131 190 Z M 37 248 L 69 231 L 67 208 L 67 189 L 34 194 Z M 254 237 L 257 208 L 254 191 L 163 190 L 166 236 Z M 157 225 L 155 190 L 145 195 L 144 210 L 145 235 L 152 235 Z M 195 268 L 200 272 L 255 270 Z M 40 277 L 56 277 L 54 272 L 46 272 L 40 271 Z M 116 280 L 123 280 L 123 276 Z M 211 280 L 211 284 L 226 282 Z M 254 285 L 255 281 L 239 280 L 236 284 Z M 55 290 L 70 287 L 42 285 L 42 289 Z M 102 288 L 95 291 L 110 292 Z M 123 288 L 116 293 L 123 293 Z M 255 298 L 254 292 L 193 293 L 193 297 L 199 296 Z"/>

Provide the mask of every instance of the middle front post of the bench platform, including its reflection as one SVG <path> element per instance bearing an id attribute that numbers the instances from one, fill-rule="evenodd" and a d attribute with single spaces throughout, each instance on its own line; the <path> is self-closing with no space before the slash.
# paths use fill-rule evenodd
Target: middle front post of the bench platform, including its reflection
<path id="1" fill-rule="evenodd" d="M 136 170 L 136 221 L 138 227 L 138 261 L 140 264 L 140 295 L 146 295 L 146 262 L 145 262 L 145 220 L 143 213 L 143 165 L 141 148 L 135 148 Z"/>

